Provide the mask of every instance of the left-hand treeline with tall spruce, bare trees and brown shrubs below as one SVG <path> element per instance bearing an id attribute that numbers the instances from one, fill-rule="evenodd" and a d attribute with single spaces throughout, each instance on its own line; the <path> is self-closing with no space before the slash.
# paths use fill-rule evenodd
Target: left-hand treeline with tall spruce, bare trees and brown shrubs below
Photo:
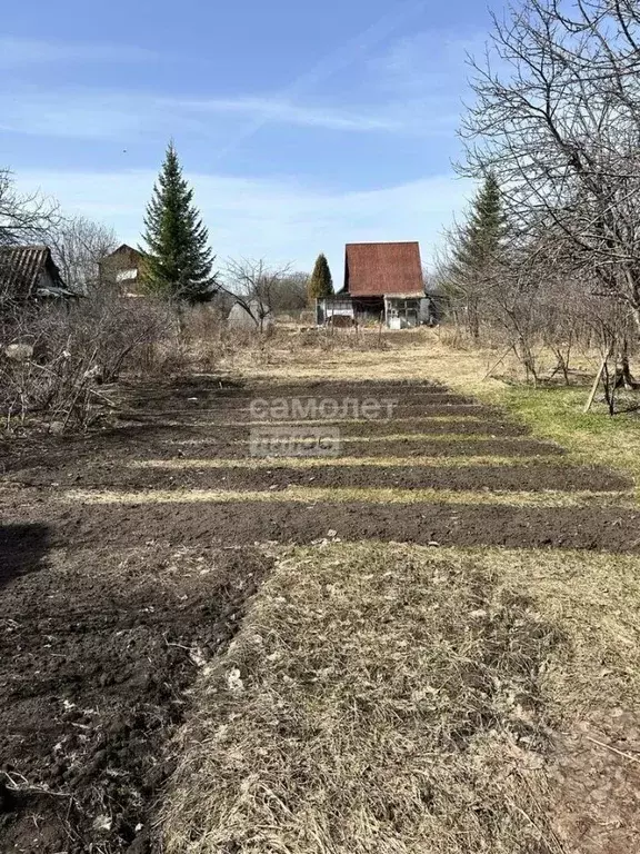
<path id="1" fill-rule="evenodd" d="M 66 285 L 58 298 L 34 297 L 22 281 L 22 259 L 40 254 L 12 248 L 33 245 L 51 249 Z M 86 428 L 112 407 L 104 387 L 122 374 L 214 369 L 252 338 L 261 348 L 273 316 L 333 291 L 323 255 L 312 275 L 263 259 L 219 265 L 173 143 L 147 207 L 134 296 L 100 264 L 117 246 L 110 228 L 20 193 L 0 170 L 0 430 Z M 237 326 L 227 320 L 234 305 L 243 309 Z"/>

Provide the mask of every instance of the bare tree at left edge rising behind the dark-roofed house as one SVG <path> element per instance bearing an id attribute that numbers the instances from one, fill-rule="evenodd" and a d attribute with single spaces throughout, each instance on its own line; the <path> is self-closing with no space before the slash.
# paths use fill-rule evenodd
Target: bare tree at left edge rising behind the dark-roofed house
<path id="1" fill-rule="evenodd" d="M 0 246 L 42 242 L 58 220 L 56 201 L 18 192 L 12 172 L 0 168 Z"/>

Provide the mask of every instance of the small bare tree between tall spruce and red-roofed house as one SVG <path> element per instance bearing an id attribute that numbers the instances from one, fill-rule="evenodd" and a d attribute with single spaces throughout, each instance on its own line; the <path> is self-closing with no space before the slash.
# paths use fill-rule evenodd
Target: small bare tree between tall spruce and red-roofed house
<path id="1" fill-rule="evenodd" d="M 269 267 L 260 259 L 230 259 L 224 270 L 221 290 L 231 295 L 261 332 L 264 330 L 282 282 L 291 274 L 290 265 Z"/>

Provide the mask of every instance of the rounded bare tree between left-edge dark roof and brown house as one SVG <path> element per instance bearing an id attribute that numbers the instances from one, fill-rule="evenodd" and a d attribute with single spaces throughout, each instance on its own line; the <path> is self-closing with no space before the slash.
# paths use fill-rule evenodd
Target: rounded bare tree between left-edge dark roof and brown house
<path id="1" fill-rule="evenodd" d="M 98 284 L 99 262 L 118 242 L 111 228 L 86 217 L 64 217 L 50 234 L 50 242 L 67 286 L 87 294 Z"/>

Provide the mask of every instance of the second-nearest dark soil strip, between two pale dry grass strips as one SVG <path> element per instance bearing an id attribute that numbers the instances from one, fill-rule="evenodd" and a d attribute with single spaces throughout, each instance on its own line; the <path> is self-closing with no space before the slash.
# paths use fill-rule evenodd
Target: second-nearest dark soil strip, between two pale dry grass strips
<path id="1" fill-rule="evenodd" d="M 322 468 L 114 469 L 88 474 L 84 486 L 119 489 L 286 489 L 288 486 L 456 489 L 470 491 L 616 491 L 632 484 L 603 467 L 471 466 L 469 468 L 331 466 Z"/>

